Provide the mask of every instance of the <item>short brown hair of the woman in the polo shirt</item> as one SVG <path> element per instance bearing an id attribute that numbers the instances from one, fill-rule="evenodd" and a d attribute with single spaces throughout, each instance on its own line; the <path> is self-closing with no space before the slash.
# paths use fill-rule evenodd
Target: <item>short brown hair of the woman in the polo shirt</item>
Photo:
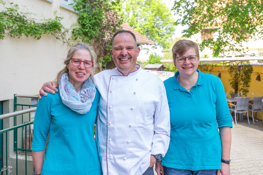
<path id="1" fill-rule="evenodd" d="M 199 47 L 197 43 L 187 39 L 177 41 L 172 48 L 173 59 L 175 59 L 177 55 L 184 55 L 186 51 L 191 48 L 195 49 L 196 55 L 199 57 Z"/>

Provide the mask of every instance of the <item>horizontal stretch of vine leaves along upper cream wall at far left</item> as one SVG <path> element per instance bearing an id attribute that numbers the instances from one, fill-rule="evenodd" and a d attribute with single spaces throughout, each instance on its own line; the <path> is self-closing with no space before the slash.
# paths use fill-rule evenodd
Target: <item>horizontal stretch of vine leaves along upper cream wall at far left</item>
<path id="1" fill-rule="evenodd" d="M 68 32 L 65 27 L 60 23 L 63 17 L 56 16 L 56 11 L 54 12 L 54 18 L 49 18 L 42 23 L 35 22 L 34 18 L 30 18 L 30 15 L 34 15 L 30 12 L 18 12 L 18 5 L 12 5 L 10 3 L 10 8 L 5 7 L 5 2 L 0 1 L 0 4 L 4 6 L 4 11 L 0 12 L 0 39 L 4 39 L 5 34 L 11 37 L 18 37 L 25 35 L 33 36 L 34 38 L 40 39 L 42 34 L 51 33 L 57 39 L 65 41 L 65 34 Z M 13 7 L 15 6 L 15 7 Z M 19 9 L 19 8 L 18 8 Z M 7 33 L 5 33 L 7 31 Z"/>

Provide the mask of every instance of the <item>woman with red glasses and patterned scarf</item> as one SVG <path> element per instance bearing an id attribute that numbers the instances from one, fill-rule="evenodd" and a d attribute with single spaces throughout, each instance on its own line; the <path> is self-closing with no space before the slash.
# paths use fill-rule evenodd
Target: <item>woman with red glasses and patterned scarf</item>
<path id="1" fill-rule="evenodd" d="M 93 130 L 100 99 L 93 84 L 97 56 L 93 47 L 79 43 L 70 48 L 64 64 L 56 78 L 59 93 L 42 96 L 37 105 L 34 174 L 101 175 Z"/>

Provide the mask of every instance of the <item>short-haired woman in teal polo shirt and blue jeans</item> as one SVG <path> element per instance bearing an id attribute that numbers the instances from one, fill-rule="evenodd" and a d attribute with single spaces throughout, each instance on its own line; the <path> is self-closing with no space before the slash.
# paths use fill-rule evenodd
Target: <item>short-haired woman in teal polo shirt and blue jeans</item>
<path id="1" fill-rule="evenodd" d="M 171 141 L 156 168 L 158 175 L 230 174 L 232 120 L 224 87 L 218 77 L 197 70 L 198 49 L 190 40 L 172 48 L 178 71 L 164 81 Z"/>

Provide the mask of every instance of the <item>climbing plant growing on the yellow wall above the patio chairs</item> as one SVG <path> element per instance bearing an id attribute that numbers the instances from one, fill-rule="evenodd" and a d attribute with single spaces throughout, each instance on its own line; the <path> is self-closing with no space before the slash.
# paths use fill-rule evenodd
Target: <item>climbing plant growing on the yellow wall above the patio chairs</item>
<path id="1" fill-rule="evenodd" d="M 229 82 L 231 88 L 234 91 L 232 93 L 238 93 L 242 91 L 244 96 L 247 96 L 249 83 L 251 82 L 251 73 L 253 72 L 253 67 L 250 64 L 241 64 L 240 61 L 232 62 L 227 65 L 229 71 Z"/>

